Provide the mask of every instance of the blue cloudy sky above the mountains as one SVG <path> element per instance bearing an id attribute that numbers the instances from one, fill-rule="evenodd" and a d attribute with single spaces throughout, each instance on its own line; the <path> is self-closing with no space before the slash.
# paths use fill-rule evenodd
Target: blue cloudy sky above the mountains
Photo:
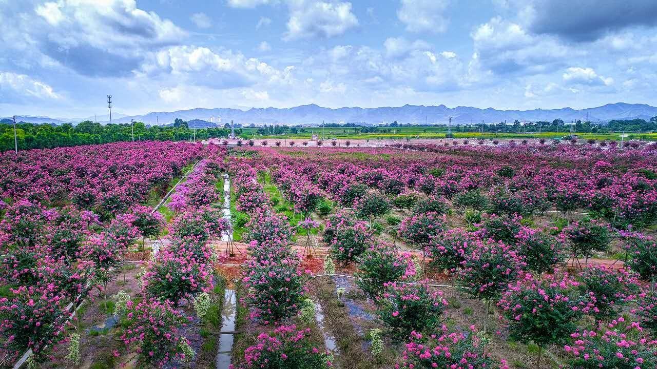
<path id="1" fill-rule="evenodd" d="M 654 0 L 0 0 L 0 116 L 657 106 Z"/>

